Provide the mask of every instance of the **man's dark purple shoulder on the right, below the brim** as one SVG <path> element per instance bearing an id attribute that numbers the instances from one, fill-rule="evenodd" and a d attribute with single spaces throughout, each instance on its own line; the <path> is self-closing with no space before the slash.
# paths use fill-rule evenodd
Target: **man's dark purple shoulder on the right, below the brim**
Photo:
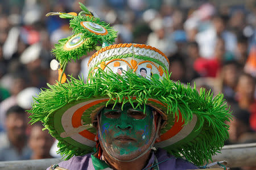
<path id="1" fill-rule="evenodd" d="M 196 165 L 189 163 L 189 161 L 176 158 L 161 148 L 158 149 L 155 155 L 158 159 L 159 169 L 166 169 L 167 167 L 170 169 L 198 169 Z"/>

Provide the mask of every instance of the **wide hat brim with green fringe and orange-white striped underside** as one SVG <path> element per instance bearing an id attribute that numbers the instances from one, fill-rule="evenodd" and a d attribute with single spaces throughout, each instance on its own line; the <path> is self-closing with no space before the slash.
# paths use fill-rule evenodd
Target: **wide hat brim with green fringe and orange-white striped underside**
<path id="1" fill-rule="evenodd" d="M 90 82 L 71 77 L 68 83 L 48 85 L 34 98 L 31 122 L 42 121 L 59 140 L 59 152 L 65 159 L 85 155 L 96 145 L 96 128 L 92 115 L 110 103 L 150 105 L 166 115 L 156 147 L 177 157 L 201 165 L 211 159 L 228 139 L 229 109 L 222 95 L 213 94 L 170 78 L 156 80 L 139 77 L 133 72 L 119 76 L 100 69 Z"/>

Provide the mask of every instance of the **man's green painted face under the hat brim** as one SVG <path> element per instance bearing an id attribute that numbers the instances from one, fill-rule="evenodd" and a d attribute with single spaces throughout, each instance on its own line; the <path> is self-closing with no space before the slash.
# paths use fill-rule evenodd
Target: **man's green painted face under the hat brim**
<path id="1" fill-rule="evenodd" d="M 118 159 L 129 159 L 139 155 L 151 145 L 155 135 L 154 115 L 150 106 L 133 109 L 126 103 L 104 108 L 101 111 L 100 141 L 110 155 Z"/>

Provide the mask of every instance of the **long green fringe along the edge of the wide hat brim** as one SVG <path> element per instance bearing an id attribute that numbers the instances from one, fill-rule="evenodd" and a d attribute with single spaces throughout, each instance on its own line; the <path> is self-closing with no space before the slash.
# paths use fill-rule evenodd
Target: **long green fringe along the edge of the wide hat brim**
<path id="1" fill-rule="evenodd" d="M 73 155 L 88 154 L 90 150 L 75 148 L 56 134 L 52 122 L 56 110 L 67 103 L 95 97 L 109 97 L 106 105 L 110 102 L 123 103 L 123 105 L 130 102 L 131 105 L 138 103 L 137 107 L 144 107 L 150 102 L 147 101 L 148 98 L 154 98 L 167 106 L 162 109 L 169 117 L 175 115 L 178 117 L 177 113 L 180 110 L 185 124 L 191 121 L 192 114 L 197 115 L 199 121 L 197 130 L 200 130 L 200 134 L 177 148 L 168 148 L 167 151 L 175 156 L 182 154 L 188 161 L 202 165 L 216 152 L 220 152 L 224 141 L 228 139 L 229 126 L 225 122 L 231 118 L 229 108 L 222 94 L 213 98 L 211 92 L 205 93 L 203 89 L 199 94 L 195 87 L 172 82 L 168 73 L 165 76 L 167 78 L 160 81 L 154 77 L 147 80 L 131 71 L 126 72 L 126 76 L 119 76 L 98 69 L 93 77 L 89 77 L 87 84 L 81 78 L 77 80 L 73 77 L 68 83 L 48 84 L 49 89 L 42 90 L 38 97 L 34 98 L 32 109 L 29 111 L 30 123 L 42 121 L 52 136 L 59 140 L 59 152 L 66 156 L 65 159 L 69 159 Z M 131 99 L 134 96 L 136 99 Z"/>

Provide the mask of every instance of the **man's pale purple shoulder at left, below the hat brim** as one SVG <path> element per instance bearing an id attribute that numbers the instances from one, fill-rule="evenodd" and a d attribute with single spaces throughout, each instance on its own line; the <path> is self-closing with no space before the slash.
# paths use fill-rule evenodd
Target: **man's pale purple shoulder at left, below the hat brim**
<path id="1" fill-rule="evenodd" d="M 59 167 L 65 168 L 68 170 L 72 169 L 94 169 L 92 164 L 92 154 L 87 154 L 83 156 L 73 156 L 69 160 L 62 161 L 58 163 Z M 49 168 L 47 168 L 49 169 Z"/>

